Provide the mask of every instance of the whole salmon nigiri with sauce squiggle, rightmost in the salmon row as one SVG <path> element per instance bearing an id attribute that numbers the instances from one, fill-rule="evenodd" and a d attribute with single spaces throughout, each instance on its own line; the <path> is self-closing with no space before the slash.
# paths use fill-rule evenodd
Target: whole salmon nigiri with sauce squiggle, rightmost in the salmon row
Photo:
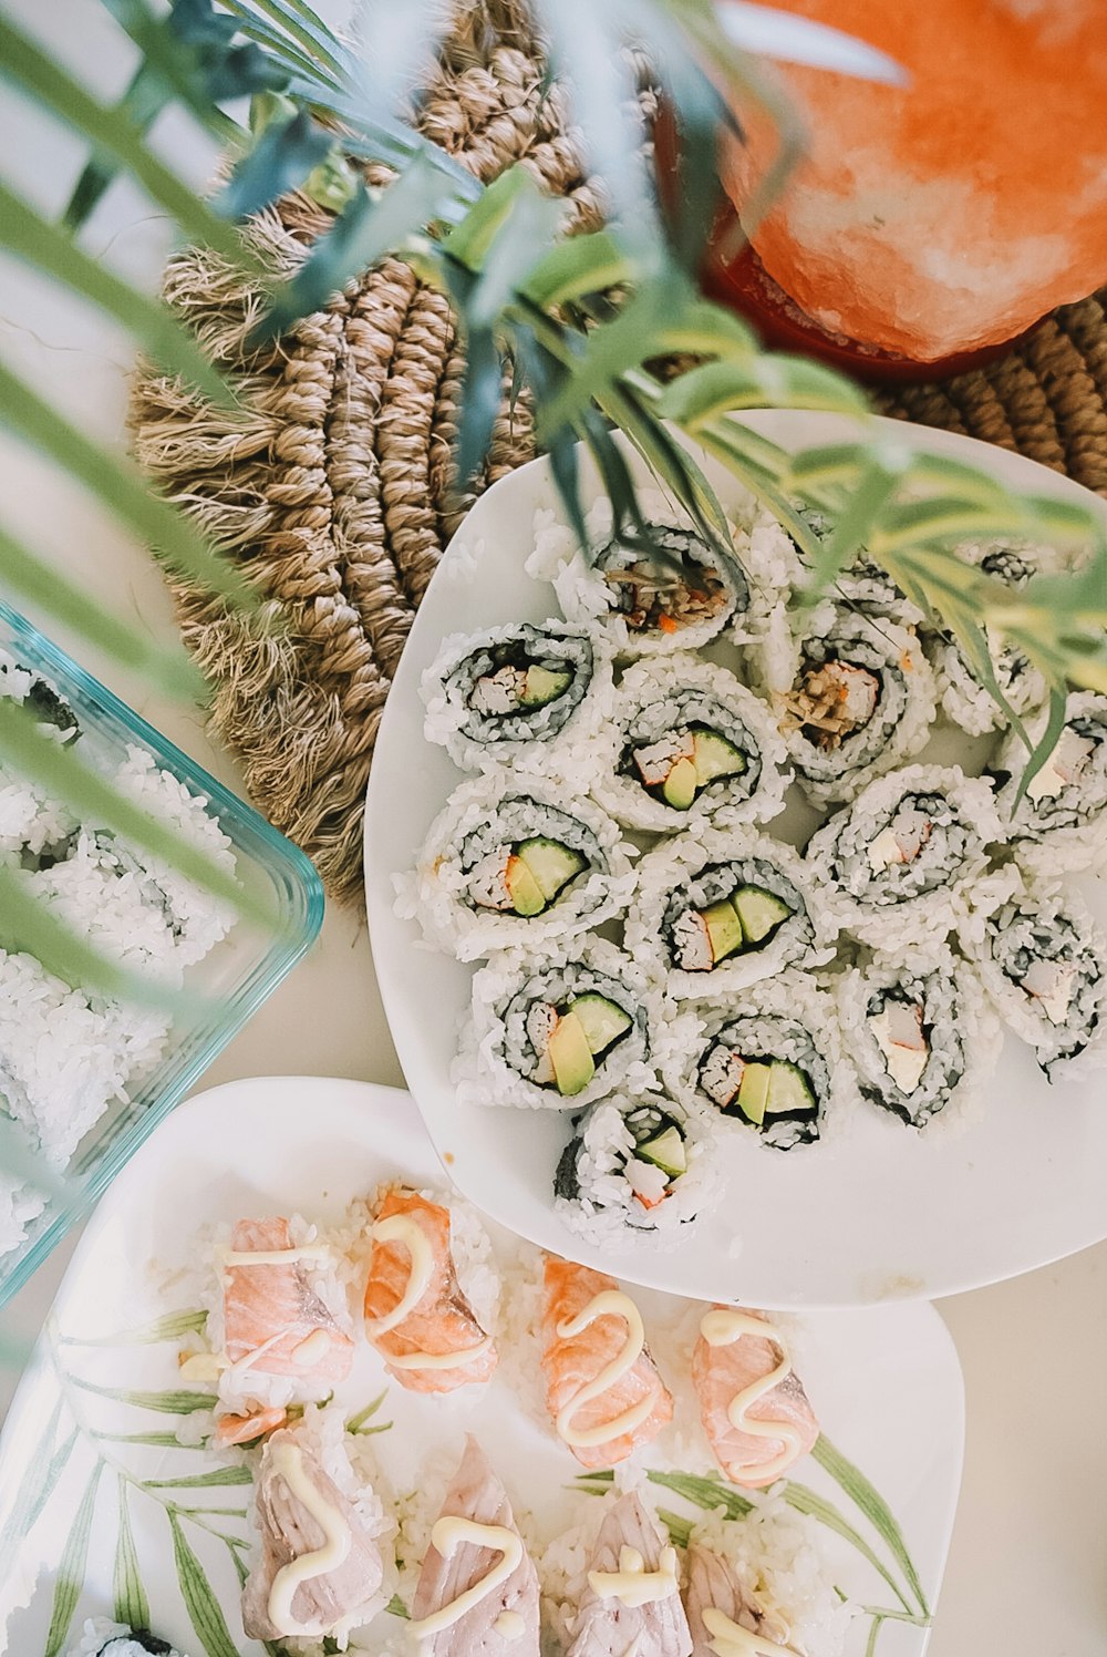
<path id="1" fill-rule="evenodd" d="M 693 1384 L 716 1461 L 734 1485 L 772 1485 L 819 1437 L 781 1331 L 764 1312 L 734 1306 L 706 1312 Z"/>

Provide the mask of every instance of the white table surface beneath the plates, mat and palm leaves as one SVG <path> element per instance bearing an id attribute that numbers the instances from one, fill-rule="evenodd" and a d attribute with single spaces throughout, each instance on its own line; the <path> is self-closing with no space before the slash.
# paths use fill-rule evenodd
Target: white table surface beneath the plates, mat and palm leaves
<path id="1" fill-rule="evenodd" d="M 98 0 L 3 0 L 103 94 L 118 94 L 129 56 Z M 326 15 L 343 0 L 320 5 Z M 212 167 L 184 119 L 159 144 L 194 179 Z M 0 91 L 0 169 L 58 209 L 78 149 L 38 111 Z M 116 187 L 85 234 L 88 249 L 151 285 L 169 234 L 156 210 Z M 129 345 L 101 318 L 0 260 L 0 350 L 86 431 L 118 439 Z M 0 520 L 151 633 L 172 636 L 157 572 L 139 547 L 35 456 L 0 439 Z M 41 618 L 35 618 L 41 620 Z M 71 643 L 48 628 L 60 643 Z M 197 709 L 172 708 L 141 683 L 78 655 L 217 777 L 242 789 Z M 207 1072 L 205 1085 L 259 1074 L 350 1075 L 403 1084 L 373 976 L 365 920 L 331 910 L 310 958 Z M 1107 1099 L 1104 1102 L 1107 1109 Z M 1104 1201 L 1107 1203 L 1107 1171 Z M 950 1225 L 971 1216 L 950 1215 Z M 41 1324 L 70 1248 L 60 1248 L 0 1316 L 7 1342 Z M 968 1394 L 964 1486 L 930 1657 L 1104 1657 L 1107 1652 L 1107 1244 L 1014 1283 L 940 1304 Z M 0 1408 L 18 1362 L 0 1359 Z M 13 1654 L 31 1657 L 31 1654 Z"/>

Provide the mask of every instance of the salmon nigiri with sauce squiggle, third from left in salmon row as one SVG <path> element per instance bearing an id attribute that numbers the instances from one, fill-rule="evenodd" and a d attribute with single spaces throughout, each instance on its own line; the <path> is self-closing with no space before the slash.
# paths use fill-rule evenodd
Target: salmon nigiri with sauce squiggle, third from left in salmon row
<path id="1" fill-rule="evenodd" d="M 615 1466 L 673 1420 L 641 1314 L 615 1278 L 545 1256 L 542 1369 L 550 1420 L 582 1466 Z"/>

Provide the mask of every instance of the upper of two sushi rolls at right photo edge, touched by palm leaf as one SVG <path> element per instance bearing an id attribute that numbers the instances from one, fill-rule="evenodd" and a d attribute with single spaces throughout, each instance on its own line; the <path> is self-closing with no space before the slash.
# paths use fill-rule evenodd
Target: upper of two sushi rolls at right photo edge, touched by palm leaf
<path id="1" fill-rule="evenodd" d="M 1037 741 L 1042 714 L 1029 729 Z M 1031 875 L 1099 868 L 1107 862 L 1107 696 L 1074 691 L 1057 742 L 1018 799 L 1027 751 L 1011 732 L 996 762 L 999 815 L 1016 862 Z"/>

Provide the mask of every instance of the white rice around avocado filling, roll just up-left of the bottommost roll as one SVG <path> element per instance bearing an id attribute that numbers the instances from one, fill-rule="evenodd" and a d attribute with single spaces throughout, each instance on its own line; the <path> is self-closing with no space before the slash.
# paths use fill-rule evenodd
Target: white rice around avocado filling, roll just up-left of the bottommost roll
<path id="1" fill-rule="evenodd" d="M 563 1094 L 554 1077 L 539 1080 L 532 1036 L 535 1007 L 567 1007 L 583 996 L 612 1002 L 628 1024 L 597 1057 L 585 1087 Z M 660 991 L 630 954 L 603 938 L 577 940 L 563 954 L 504 951 L 472 979 L 472 1007 L 451 1069 L 459 1104 L 580 1110 L 615 1089 L 656 1087 L 655 1042 L 670 1016 Z M 530 1026 L 530 1027 L 529 1027 Z"/>

